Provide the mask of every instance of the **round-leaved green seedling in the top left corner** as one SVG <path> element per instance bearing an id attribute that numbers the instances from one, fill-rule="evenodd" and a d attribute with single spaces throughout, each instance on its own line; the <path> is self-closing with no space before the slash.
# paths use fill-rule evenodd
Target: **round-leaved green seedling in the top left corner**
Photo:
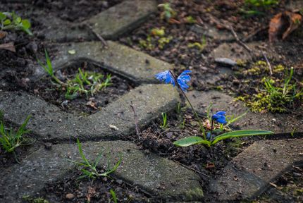
<path id="1" fill-rule="evenodd" d="M 20 18 L 14 12 L 0 12 L 0 30 L 22 30 L 27 35 L 32 35 L 30 26 L 29 20 Z"/>

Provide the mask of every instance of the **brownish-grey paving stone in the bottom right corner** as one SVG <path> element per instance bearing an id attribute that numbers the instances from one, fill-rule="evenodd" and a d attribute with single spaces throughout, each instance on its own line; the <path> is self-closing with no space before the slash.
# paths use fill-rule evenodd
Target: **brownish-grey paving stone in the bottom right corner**
<path id="1" fill-rule="evenodd" d="M 303 164 L 303 139 L 254 142 L 223 169 L 210 188 L 220 201 L 252 199 L 294 164 Z"/>

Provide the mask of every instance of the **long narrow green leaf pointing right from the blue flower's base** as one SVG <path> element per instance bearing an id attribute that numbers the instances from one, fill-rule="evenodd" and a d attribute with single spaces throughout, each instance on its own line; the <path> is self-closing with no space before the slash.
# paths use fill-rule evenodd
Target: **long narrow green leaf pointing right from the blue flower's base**
<path id="1" fill-rule="evenodd" d="M 220 140 L 225 140 L 232 137 L 245 137 L 245 136 L 254 136 L 254 135 L 270 135 L 273 132 L 268 130 L 235 130 L 228 133 L 223 133 L 215 137 L 211 144 L 216 144 Z"/>

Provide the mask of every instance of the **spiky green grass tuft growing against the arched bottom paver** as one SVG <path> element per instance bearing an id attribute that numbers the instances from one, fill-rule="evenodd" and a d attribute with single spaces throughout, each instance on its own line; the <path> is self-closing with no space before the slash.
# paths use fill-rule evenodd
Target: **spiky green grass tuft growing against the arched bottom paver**
<path id="1" fill-rule="evenodd" d="M 100 152 L 99 155 L 97 156 L 97 158 L 93 162 L 91 162 L 91 161 L 87 160 L 87 158 L 85 157 L 85 154 L 82 151 L 82 145 L 78 139 L 77 139 L 77 144 L 78 144 L 78 149 L 79 149 L 79 153 L 80 153 L 82 161 L 80 162 L 80 161 L 73 161 L 70 159 L 68 159 L 68 160 L 75 163 L 76 165 L 78 165 L 80 168 L 80 171 L 82 171 L 83 175 L 80 176 L 79 179 L 81 179 L 81 178 L 95 179 L 98 177 L 109 177 L 109 174 L 116 171 L 116 169 L 118 168 L 118 166 L 120 165 L 120 163 L 122 161 L 122 156 L 120 156 L 119 161 L 116 163 L 115 166 L 113 166 L 111 168 L 111 161 L 110 161 L 110 159 L 108 159 L 106 171 L 101 173 L 100 171 L 98 171 L 97 166 L 99 164 L 99 161 L 101 160 L 102 152 Z"/>

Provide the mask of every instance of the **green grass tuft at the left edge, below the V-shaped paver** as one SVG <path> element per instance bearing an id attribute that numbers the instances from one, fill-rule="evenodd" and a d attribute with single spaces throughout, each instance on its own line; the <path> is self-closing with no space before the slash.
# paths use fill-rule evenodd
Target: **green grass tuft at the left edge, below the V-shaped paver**
<path id="1" fill-rule="evenodd" d="M 5 150 L 5 152 L 13 153 L 17 162 L 17 156 L 15 153 L 15 149 L 22 145 L 25 145 L 29 139 L 25 139 L 23 135 L 30 133 L 30 130 L 26 130 L 26 125 L 30 120 L 31 116 L 27 116 L 25 121 L 21 124 L 20 128 L 15 132 L 13 128 L 6 128 L 4 125 L 4 114 L 0 111 L 0 146 Z"/>

